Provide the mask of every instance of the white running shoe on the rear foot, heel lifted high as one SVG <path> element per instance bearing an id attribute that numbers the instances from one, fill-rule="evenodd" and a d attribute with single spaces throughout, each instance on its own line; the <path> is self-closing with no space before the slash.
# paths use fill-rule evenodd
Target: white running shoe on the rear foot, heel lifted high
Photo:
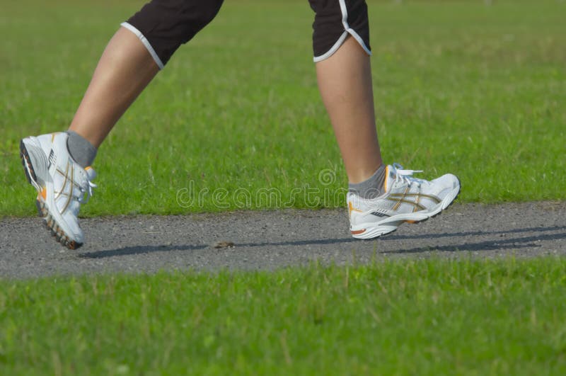
<path id="1" fill-rule="evenodd" d="M 83 169 L 69 155 L 67 133 L 26 137 L 20 157 L 28 181 L 37 190 L 37 210 L 51 234 L 69 249 L 83 244 L 79 209 L 93 194 L 96 173 Z"/>

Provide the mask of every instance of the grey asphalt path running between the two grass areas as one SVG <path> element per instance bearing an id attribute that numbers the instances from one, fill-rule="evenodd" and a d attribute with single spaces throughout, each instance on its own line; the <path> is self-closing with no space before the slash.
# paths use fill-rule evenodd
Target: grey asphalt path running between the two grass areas
<path id="1" fill-rule="evenodd" d="M 71 251 L 39 217 L 0 219 L 0 278 L 566 253 L 566 202 L 455 204 L 427 222 L 365 241 L 350 237 L 345 210 L 98 217 L 81 226 L 86 244 Z"/>

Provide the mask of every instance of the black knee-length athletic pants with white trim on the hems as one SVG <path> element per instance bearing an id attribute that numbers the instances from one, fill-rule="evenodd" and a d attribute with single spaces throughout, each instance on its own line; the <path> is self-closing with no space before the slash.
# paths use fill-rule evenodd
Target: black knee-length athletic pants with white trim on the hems
<path id="1" fill-rule="evenodd" d="M 159 68 L 214 19 L 224 0 L 152 0 L 122 26 L 144 43 Z M 314 61 L 326 59 L 352 35 L 371 55 L 365 0 L 309 0 L 315 12 Z"/>

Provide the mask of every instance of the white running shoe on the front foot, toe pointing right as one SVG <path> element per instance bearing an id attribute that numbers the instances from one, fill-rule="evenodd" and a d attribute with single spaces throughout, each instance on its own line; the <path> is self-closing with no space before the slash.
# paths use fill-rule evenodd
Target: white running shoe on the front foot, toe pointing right
<path id="1" fill-rule="evenodd" d="M 393 232 L 405 222 L 417 223 L 439 215 L 456 200 L 460 181 L 447 173 L 433 181 L 413 178 L 414 170 L 393 164 L 386 167 L 383 195 L 364 199 L 347 194 L 350 232 L 357 239 L 371 239 Z"/>

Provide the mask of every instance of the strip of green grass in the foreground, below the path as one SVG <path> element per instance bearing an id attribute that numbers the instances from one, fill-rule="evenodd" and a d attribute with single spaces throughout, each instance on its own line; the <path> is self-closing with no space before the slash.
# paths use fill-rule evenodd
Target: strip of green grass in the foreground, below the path
<path id="1" fill-rule="evenodd" d="M 3 375 L 564 375 L 566 259 L 0 280 Z"/>

